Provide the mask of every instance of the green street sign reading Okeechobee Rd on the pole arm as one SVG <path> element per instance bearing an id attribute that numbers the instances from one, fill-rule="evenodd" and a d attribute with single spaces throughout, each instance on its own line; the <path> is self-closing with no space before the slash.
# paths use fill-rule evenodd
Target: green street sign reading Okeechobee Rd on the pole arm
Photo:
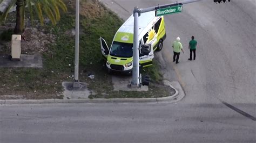
<path id="1" fill-rule="evenodd" d="M 157 9 L 156 16 L 170 15 L 173 13 L 182 12 L 182 5 L 172 6 L 169 8 Z"/>

